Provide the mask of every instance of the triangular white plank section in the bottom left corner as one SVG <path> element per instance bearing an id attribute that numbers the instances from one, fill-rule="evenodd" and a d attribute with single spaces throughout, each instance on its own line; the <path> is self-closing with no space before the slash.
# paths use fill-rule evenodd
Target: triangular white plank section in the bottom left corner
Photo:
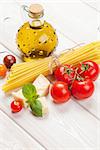
<path id="1" fill-rule="evenodd" d="M 0 110 L 0 149 L 20 150 L 20 149 L 44 148 L 26 134 L 9 117 Z"/>

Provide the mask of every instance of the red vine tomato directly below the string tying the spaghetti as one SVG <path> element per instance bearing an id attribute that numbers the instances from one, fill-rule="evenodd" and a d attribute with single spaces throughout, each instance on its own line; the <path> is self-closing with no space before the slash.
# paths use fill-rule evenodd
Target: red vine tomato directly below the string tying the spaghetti
<path id="1" fill-rule="evenodd" d="M 57 80 L 66 82 L 70 86 L 75 77 L 75 70 L 71 65 L 65 64 L 64 66 L 57 67 L 54 75 Z"/>

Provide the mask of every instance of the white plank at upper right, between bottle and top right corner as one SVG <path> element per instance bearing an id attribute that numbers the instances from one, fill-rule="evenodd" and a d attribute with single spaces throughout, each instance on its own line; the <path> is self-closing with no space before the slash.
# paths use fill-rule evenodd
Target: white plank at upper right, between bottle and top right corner
<path id="1" fill-rule="evenodd" d="M 48 4 L 46 6 L 48 6 Z M 59 28 L 62 33 L 73 39 L 73 41 L 77 43 L 89 43 L 97 40 L 98 26 L 100 22 L 99 13 L 93 11 L 88 6 L 80 1 L 66 1 L 64 3 L 49 4 L 48 9 L 49 16 L 52 17 L 52 21 L 55 22 L 57 28 Z M 51 15 L 50 10 L 52 10 Z"/>

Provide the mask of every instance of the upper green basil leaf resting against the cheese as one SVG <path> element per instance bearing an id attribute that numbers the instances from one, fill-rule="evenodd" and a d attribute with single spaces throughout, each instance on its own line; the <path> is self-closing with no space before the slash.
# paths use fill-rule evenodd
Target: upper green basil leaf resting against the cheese
<path id="1" fill-rule="evenodd" d="M 36 97 L 37 95 L 36 88 L 31 83 L 28 83 L 23 86 L 22 93 L 24 97 L 27 98 L 28 100 L 32 100 L 33 97 Z"/>

